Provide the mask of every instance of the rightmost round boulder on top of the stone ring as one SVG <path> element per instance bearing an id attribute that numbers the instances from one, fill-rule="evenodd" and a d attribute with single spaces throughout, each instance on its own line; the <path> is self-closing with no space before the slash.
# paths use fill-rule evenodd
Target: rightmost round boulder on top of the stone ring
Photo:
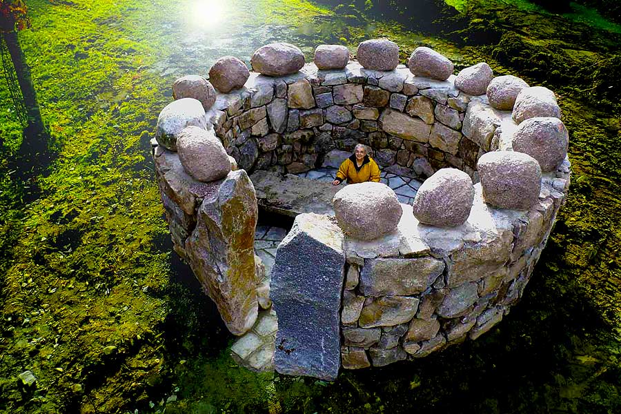
<path id="1" fill-rule="evenodd" d="M 522 122 L 513 132 L 514 151 L 530 155 L 543 172 L 555 171 L 567 155 L 569 132 L 553 117 L 535 117 Z"/>

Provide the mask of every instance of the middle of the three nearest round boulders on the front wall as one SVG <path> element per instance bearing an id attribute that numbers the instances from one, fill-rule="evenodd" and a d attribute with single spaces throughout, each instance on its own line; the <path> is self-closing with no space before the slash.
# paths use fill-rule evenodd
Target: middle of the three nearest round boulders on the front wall
<path id="1" fill-rule="evenodd" d="M 414 217 L 431 226 L 460 226 L 468 219 L 473 200 L 470 176 L 456 168 L 442 168 L 418 189 L 413 203 Z"/>

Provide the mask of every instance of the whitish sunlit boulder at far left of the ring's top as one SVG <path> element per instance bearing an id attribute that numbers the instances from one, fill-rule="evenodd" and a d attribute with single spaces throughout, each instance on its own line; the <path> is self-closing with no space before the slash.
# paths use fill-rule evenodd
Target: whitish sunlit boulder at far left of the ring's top
<path id="1" fill-rule="evenodd" d="M 203 104 L 194 98 L 172 101 L 159 112 L 155 126 L 157 144 L 171 151 L 177 150 L 177 136 L 186 126 L 207 128 Z"/>

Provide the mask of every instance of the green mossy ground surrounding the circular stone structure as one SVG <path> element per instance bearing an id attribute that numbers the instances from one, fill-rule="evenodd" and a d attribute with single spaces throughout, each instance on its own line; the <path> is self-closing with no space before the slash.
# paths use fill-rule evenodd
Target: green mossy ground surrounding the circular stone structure
<path id="1" fill-rule="evenodd" d="M 28 0 L 19 32 L 55 159 L 28 177 L 0 82 L 0 412 L 621 412 L 621 137 L 613 23 L 464 1 L 437 32 L 303 0 Z M 523 2 L 522 2 L 523 3 Z M 593 17 L 590 9 L 578 14 Z M 582 14 L 580 14 L 582 10 Z M 591 19 L 592 20 L 592 19 Z M 413 25 L 412 27 L 415 27 Z M 522 303 L 476 342 L 326 384 L 255 374 L 172 253 L 148 141 L 170 84 L 268 41 L 370 36 L 549 86 L 571 193 Z M 28 177 L 25 181 L 23 177 Z M 18 375 L 32 371 L 35 386 Z"/>

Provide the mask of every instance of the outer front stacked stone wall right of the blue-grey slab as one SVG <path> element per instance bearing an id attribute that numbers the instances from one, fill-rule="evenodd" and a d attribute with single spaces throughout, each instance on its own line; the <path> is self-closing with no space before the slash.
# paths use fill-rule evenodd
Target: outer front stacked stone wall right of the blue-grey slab
<path id="1" fill-rule="evenodd" d="M 527 212 L 489 208 L 475 185 L 460 228 L 425 226 L 411 207 L 392 235 L 347 238 L 342 366 L 424 357 L 500 322 L 521 297 L 564 199 L 567 164 L 544 177 Z"/>

